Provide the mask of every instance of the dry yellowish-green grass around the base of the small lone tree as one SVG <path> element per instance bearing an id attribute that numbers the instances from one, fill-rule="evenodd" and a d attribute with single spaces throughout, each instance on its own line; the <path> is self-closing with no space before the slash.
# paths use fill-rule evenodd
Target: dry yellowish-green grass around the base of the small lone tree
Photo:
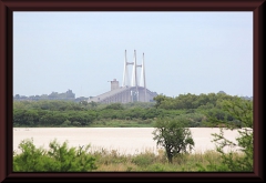
<path id="1" fill-rule="evenodd" d="M 96 157 L 98 166 L 93 172 L 200 172 L 209 164 L 222 164 L 221 154 L 216 151 L 182 154 L 175 156 L 172 164 L 167 162 L 163 150 L 158 150 L 157 154 L 146 151 L 133 155 L 102 150 L 94 151 L 92 155 Z M 241 156 L 238 153 L 235 155 Z"/>

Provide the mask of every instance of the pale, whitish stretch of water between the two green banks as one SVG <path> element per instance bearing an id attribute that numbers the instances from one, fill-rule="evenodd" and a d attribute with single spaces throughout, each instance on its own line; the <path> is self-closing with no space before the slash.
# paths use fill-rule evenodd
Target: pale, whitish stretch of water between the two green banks
<path id="1" fill-rule="evenodd" d="M 158 149 L 153 140 L 153 128 L 13 128 L 13 150 L 20 152 L 19 143 L 33 138 L 37 148 L 49 148 L 49 143 L 57 139 L 59 143 L 68 141 L 69 146 L 91 144 L 92 150 L 116 150 L 121 154 L 139 154 Z M 212 133 L 219 133 L 218 128 L 191 128 L 195 142 L 193 152 L 215 150 Z M 236 142 L 238 132 L 225 130 L 224 136 Z M 226 150 L 227 151 L 227 150 Z"/>

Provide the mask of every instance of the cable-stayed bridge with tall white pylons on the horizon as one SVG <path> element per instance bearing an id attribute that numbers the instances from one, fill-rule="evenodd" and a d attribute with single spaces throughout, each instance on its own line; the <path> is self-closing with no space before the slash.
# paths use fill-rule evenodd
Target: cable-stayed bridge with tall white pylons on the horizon
<path id="1" fill-rule="evenodd" d="M 100 94 L 94 98 L 89 98 L 88 102 L 99 102 L 99 103 L 129 103 L 129 102 L 151 102 L 153 98 L 157 95 L 156 92 L 152 92 L 146 89 L 145 81 L 145 67 L 144 67 L 144 53 L 143 61 L 141 65 L 136 64 L 136 55 L 134 51 L 134 62 L 127 62 L 126 51 L 124 61 L 124 73 L 122 87 L 119 85 L 119 81 L 113 79 L 111 82 L 111 91 Z M 131 83 L 129 83 L 129 71 L 127 65 L 132 64 L 132 78 Z M 137 78 L 136 69 L 142 68 L 140 83 Z"/>

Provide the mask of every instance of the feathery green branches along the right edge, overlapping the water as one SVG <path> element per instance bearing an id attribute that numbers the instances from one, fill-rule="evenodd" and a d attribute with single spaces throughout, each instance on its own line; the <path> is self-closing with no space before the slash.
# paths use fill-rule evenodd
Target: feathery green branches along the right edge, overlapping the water
<path id="1" fill-rule="evenodd" d="M 237 143 L 226 139 L 223 129 L 219 134 L 213 134 L 213 142 L 216 143 L 216 151 L 221 153 L 223 166 L 212 166 L 213 170 L 228 170 L 228 171 L 253 171 L 253 103 L 252 101 L 236 99 L 233 101 L 224 101 L 223 110 L 228 112 L 233 118 L 241 122 L 239 126 L 235 124 L 221 121 L 219 119 L 209 118 L 215 123 L 224 123 L 225 129 L 234 130 L 241 128 L 238 131 L 239 138 L 236 138 Z M 226 153 L 225 148 L 239 148 L 243 156 L 236 156 L 234 152 Z"/>

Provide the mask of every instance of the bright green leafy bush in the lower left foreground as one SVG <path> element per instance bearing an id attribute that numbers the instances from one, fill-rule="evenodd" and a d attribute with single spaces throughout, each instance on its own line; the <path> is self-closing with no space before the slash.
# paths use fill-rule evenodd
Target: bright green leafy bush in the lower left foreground
<path id="1" fill-rule="evenodd" d="M 13 156 L 14 172 L 88 172 L 96 170 L 95 157 L 89 154 L 90 145 L 68 148 L 64 142 L 60 145 L 55 140 L 49 144 L 49 151 L 37 149 L 33 140 L 23 140 L 19 144 L 22 151 Z"/>

